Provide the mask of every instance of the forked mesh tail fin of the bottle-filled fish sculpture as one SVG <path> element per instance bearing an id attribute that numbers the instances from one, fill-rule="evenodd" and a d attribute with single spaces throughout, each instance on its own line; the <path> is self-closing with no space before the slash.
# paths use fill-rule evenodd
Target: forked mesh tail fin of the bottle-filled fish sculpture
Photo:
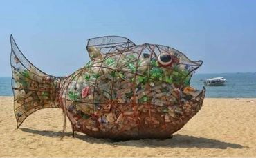
<path id="1" fill-rule="evenodd" d="M 33 66 L 10 36 L 12 91 L 17 128 L 33 112 L 43 108 L 60 108 L 58 94 L 61 77 L 53 77 Z"/>

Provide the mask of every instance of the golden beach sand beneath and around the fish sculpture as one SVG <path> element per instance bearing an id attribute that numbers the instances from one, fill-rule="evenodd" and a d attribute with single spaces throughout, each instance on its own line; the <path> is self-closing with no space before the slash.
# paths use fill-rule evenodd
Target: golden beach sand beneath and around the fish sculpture
<path id="1" fill-rule="evenodd" d="M 16 129 L 12 97 L 0 97 L 1 157 L 256 157 L 256 99 L 205 99 L 172 139 L 119 141 L 62 137 L 62 110 L 30 115 Z"/>

